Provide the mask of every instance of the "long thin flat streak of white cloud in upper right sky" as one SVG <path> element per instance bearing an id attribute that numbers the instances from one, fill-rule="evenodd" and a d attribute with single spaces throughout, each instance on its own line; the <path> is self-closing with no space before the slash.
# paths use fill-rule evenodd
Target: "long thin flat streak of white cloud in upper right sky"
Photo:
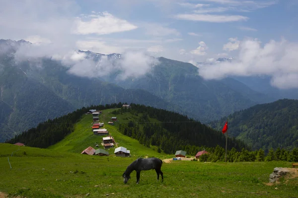
<path id="1" fill-rule="evenodd" d="M 225 23 L 234 21 L 247 21 L 249 18 L 240 15 L 215 15 L 215 14 L 177 14 L 176 19 L 191 20 L 191 21 L 205 21 L 214 23 Z"/>

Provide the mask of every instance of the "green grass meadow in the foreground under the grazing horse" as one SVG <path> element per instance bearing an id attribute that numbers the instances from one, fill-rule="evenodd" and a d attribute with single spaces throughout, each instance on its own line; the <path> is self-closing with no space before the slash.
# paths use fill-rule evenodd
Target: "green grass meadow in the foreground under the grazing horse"
<path id="1" fill-rule="evenodd" d="M 298 196 L 298 178 L 265 184 L 275 167 L 291 167 L 289 162 L 173 161 L 162 164 L 163 183 L 149 170 L 141 172 L 139 185 L 135 171 L 124 184 L 122 173 L 135 159 L 0 144 L 0 192 L 27 198 Z"/>

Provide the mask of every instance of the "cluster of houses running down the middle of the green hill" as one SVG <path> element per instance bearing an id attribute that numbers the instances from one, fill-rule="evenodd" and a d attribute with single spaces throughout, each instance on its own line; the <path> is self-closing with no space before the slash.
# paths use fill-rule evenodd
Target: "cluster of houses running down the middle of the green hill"
<path id="1" fill-rule="evenodd" d="M 113 148 L 115 143 L 115 140 L 112 136 L 109 136 L 109 132 L 107 129 L 101 128 L 104 126 L 104 123 L 101 123 L 99 121 L 99 114 L 102 113 L 102 111 L 97 111 L 96 109 L 90 109 L 88 114 L 92 113 L 92 118 L 93 118 L 93 125 L 91 126 L 93 134 L 94 135 L 99 135 L 99 136 L 107 136 L 107 137 L 103 137 L 102 138 L 102 142 L 103 142 L 103 146 L 105 149 L 107 148 Z M 111 121 L 108 122 L 108 124 L 110 125 L 114 125 L 114 122 L 117 121 L 117 117 L 111 117 Z M 96 145 L 96 147 L 98 147 L 98 145 Z M 92 147 L 88 147 L 86 149 L 84 149 L 81 154 L 88 154 L 88 155 L 100 155 L 100 156 L 104 156 L 104 155 L 109 155 L 109 152 L 105 149 L 102 148 L 92 148 Z M 128 150 L 127 148 L 124 147 L 118 147 L 115 149 L 115 155 L 116 156 L 123 156 L 123 157 L 127 157 L 130 156 L 130 150 Z"/>

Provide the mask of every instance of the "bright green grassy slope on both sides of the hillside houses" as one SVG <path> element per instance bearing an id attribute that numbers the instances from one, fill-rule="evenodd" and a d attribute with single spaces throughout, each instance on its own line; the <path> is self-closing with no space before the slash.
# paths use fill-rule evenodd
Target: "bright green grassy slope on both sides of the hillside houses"
<path id="1" fill-rule="evenodd" d="M 119 108 L 115 108 L 119 109 Z M 106 109 L 103 110 L 103 113 L 100 115 L 101 121 L 105 123 L 104 128 L 106 128 L 109 133 L 114 137 L 118 147 L 125 147 L 131 150 L 133 156 L 149 155 L 156 156 L 160 155 L 157 153 L 156 147 L 145 147 L 141 145 L 139 141 L 122 135 L 117 130 L 117 123 L 114 126 L 108 125 L 107 122 L 110 121 L 111 117 L 114 115 L 111 114 L 112 110 L 115 109 Z M 126 115 L 118 116 L 118 120 L 125 121 L 127 119 Z M 68 135 L 65 139 L 59 143 L 49 147 L 49 149 L 60 150 L 60 151 L 70 151 L 80 153 L 83 149 L 91 146 L 96 148 L 95 145 L 99 145 L 99 148 L 103 148 L 100 143 L 102 142 L 102 137 L 104 136 L 95 136 L 93 135 L 91 126 L 92 126 L 92 115 L 83 115 L 82 119 L 75 124 L 74 132 Z M 153 148 L 155 150 L 153 150 Z M 115 148 L 109 148 L 108 151 L 110 154 L 114 154 Z"/>

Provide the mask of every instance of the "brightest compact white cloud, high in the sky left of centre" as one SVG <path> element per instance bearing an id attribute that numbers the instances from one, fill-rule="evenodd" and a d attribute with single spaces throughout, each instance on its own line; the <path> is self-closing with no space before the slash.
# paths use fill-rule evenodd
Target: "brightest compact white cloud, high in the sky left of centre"
<path id="1" fill-rule="evenodd" d="M 87 19 L 87 21 L 85 21 Z M 107 11 L 91 14 L 88 16 L 77 17 L 74 22 L 74 34 L 111 34 L 137 29 L 136 25 L 124 19 L 119 19 Z"/>

